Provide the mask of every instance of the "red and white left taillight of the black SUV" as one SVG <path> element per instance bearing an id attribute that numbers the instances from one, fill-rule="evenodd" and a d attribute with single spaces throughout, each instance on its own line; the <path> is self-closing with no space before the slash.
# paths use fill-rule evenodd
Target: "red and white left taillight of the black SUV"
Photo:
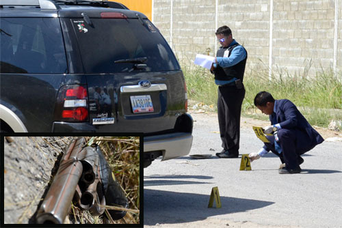
<path id="1" fill-rule="evenodd" d="M 65 122 L 88 121 L 88 92 L 86 85 L 65 85 L 57 97 L 57 120 Z"/>

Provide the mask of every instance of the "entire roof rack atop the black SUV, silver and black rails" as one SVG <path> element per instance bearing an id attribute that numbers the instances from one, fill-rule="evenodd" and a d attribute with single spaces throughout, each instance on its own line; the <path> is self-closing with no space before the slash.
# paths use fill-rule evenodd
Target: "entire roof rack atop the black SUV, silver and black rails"
<path id="1" fill-rule="evenodd" d="M 60 9 L 60 5 L 91 5 L 91 6 L 99 6 L 105 8 L 116 8 L 122 10 L 129 10 L 122 3 L 118 3 L 115 1 L 107 1 L 107 0 L 1 0 L 0 8 L 6 6 L 8 8 L 15 7 L 32 7 L 32 8 L 40 8 L 44 10 L 58 10 Z"/>

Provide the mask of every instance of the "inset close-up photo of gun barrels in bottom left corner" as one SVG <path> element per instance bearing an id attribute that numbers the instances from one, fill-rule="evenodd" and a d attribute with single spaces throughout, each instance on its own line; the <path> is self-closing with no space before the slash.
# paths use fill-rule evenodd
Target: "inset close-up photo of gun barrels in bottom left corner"
<path id="1" fill-rule="evenodd" d="M 142 224 L 140 137 L 4 138 L 4 225 Z"/>

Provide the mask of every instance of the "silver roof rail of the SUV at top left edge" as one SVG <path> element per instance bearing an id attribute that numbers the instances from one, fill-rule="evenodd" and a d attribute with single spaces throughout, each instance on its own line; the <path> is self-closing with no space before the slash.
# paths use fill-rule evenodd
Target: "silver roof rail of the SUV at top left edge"
<path id="1" fill-rule="evenodd" d="M 18 6 L 29 6 L 36 7 L 44 10 L 57 10 L 60 9 L 60 5 L 57 5 L 53 1 L 49 0 L 1 0 L 0 7 L 18 7 Z"/>

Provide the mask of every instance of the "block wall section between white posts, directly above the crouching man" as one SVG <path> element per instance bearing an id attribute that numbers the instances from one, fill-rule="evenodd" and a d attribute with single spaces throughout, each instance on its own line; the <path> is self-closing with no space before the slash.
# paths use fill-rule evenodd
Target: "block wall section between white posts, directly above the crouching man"
<path id="1" fill-rule="evenodd" d="M 334 65 L 334 1 L 274 1 L 272 42 L 273 68 L 302 75 L 312 64 L 309 74 L 329 71 Z"/>

